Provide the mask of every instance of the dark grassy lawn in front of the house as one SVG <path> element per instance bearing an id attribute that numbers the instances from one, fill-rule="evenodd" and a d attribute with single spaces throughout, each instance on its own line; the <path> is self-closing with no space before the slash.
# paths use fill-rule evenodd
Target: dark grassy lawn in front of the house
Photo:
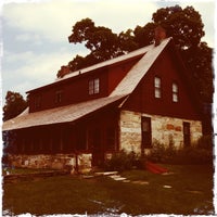
<path id="1" fill-rule="evenodd" d="M 212 166 L 170 166 L 169 175 L 148 170 L 84 179 L 56 176 L 3 184 L 3 210 L 48 214 L 213 214 Z"/>

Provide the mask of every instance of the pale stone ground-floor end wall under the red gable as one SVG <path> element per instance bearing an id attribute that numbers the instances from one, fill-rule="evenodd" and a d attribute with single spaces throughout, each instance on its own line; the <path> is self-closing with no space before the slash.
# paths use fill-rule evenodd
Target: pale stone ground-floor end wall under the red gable
<path id="1" fill-rule="evenodd" d="M 127 152 L 135 151 L 137 154 L 141 154 L 141 116 L 151 117 L 153 143 L 157 141 L 168 145 L 169 142 L 173 142 L 176 148 L 182 148 L 183 122 L 190 123 L 192 144 L 202 137 L 202 124 L 199 120 L 123 111 L 119 122 L 120 149 L 125 149 Z"/>

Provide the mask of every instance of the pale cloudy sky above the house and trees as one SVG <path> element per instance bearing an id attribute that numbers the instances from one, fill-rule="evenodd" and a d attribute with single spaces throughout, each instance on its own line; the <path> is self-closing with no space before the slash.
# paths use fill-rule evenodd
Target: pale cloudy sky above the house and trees
<path id="1" fill-rule="evenodd" d="M 89 52 L 82 44 L 68 42 L 72 27 L 86 17 L 95 26 L 119 34 L 137 25 L 144 26 L 157 9 L 192 5 L 204 23 L 202 41 L 212 48 L 215 46 L 215 0 L 3 0 L 0 4 L 3 103 L 8 90 L 25 98 L 26 91 L 54 81 L 61 66 L 77 54 L 85 56 Z"/>

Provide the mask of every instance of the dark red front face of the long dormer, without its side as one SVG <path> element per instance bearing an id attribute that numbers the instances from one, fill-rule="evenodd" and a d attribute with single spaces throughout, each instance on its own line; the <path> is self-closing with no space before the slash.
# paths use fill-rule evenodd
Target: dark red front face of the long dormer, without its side
<path id="1" fill-rule="evenodd" d="M 89 94 L 89 80 L 100 79 L 100 91 L 97 94 Z M 62 93 L 61 102 L 56 102 L 56 92 Z M 40 95 L 40 106 L 35 106 L 35 100 Z M 56 82 L 51 86 L 46 86 L 30 92 L 29 94 L 29 107 L 30 112 L 37 112 L 48 110 L 56 106 L 63 106 L 74 104 L 95 98 L 102 98 L 107 95 L 107 71 L 101 69 L 91 74 L 84 74 L 67 80 Z"/>

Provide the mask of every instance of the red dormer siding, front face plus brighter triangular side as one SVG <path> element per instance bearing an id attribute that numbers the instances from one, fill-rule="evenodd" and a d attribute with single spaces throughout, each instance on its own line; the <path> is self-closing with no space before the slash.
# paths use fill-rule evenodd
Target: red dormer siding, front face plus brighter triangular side
<path id="1" fill-rule="evenodd" d="M 29 112 L 107 97 L 140 58 L 141 55 L 33 90 L 29 92 Z M 89 94 L 89 81 L 97 78 L 100 80 L 100 91 Z M 59 100 L 56 93 L 61 94 Z"/>

